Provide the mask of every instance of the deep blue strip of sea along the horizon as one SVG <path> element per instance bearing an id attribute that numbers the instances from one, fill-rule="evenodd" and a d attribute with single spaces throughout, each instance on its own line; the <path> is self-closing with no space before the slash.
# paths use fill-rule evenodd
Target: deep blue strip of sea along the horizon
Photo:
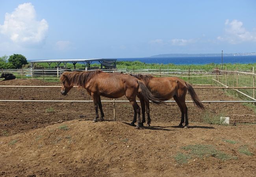
<path id="1" fill-rule="evenodd" d="M 143 63 L 173 63 L 176 65 L 203 65 L 208 63 L 221 63 L 221 56 L 214 57 L 145 57 L 145 58 L 119 58 L 117 61 L 141 61 Z M 223 63 L 256 63 L 256 55 L 223 56 Z"/>

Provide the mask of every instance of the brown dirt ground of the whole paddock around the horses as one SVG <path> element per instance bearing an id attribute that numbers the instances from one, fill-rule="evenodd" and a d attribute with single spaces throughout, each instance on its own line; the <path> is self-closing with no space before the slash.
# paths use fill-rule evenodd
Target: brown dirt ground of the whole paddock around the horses
<path id="1" fill-rule="evenodd" d="M 39 80 L 11 80 L 0 85 L 60 85 Z M 61 96 L 59 88 L 0 88 L 0 100 L 91 100 L 84 89 Z M 195 89 L 201 100 L 233 100 L 221 90 Z M 102 98 L 102 100 L 108 100 Z M 120 98 L 119 100 L 126 100 Z M 187 100 L 191 100 L 187 94 Z M 152 127 L 135 129 L 129 103 L 102 103 L 107 121 L 93 123 L 93 103 L 0 102 L 0 176 L 254 176 L 255 113 L 240 103 L 204 103 L 210 114 L 230 117 L 231 125 L 202 123 L 203 111 L 187 103 L 189 129 L 177 128 L 176 103 L 150 105 Z M 51 108 L 52 111 L 47 111 Z M 246 114 L 246 116 L 245 116 Z M 240 115 L 240 116 L 237 116 Z M 244 115 L 244 116 L 243 116 Z M 236 126 L 233 126 L 237 123 Z M 59 129 L 67 125 L 68 129 Z M 230 144 L 224 140 L 234 140 Z M 178 164 L 181 147 L 213 145 L 237 157 L 192 156 Z M 246 145 L 254 155 L 239 153 Z"/>

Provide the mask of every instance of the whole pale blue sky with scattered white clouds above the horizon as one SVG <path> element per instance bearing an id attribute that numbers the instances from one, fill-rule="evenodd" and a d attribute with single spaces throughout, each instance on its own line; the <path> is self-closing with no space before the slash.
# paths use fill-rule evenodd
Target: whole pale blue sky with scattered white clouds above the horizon
<path id="1" fill-rule="evenodd" d="M 254 0 L 0 0 L 0 56 L 256 52 Z"/>

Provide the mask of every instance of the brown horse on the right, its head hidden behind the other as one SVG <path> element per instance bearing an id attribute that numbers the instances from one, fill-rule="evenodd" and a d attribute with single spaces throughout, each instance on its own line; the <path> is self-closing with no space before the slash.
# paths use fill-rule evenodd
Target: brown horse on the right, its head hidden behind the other
<path id="1" fill-rule="evenodd" d="M 193 87 L 186 83 L 186 81 L 178 78 L 178 77 L 154 77 L 150 75 L 142 75 L 142 74 L 130 74 L 131 76 L 140 79 L 145 83 L 148 90 L 152 92 L 157 98 L 160 98 L 162 101 L 169 100 L 173 98 L 181 111 L 181 121 L 178 125 L 179 127 L 183 126 L 184 116 L 185 116 L 185 126 L 188 127 L 188 117 L 187 117 L 187 105 L 185 102 L 186 93 L 189 92 L 193 102 L 199 109 L 204 110 L 204 105 L 199 100 L 197 94 Z M 145 106 L 148 116 L 148 126 L 150 126 L 150 115 L 149 115 L 149 104 L 143 100 L 141 101 L 141 111 L 142 111 L 142 122 L 141 125 L 145 123 Z"/>

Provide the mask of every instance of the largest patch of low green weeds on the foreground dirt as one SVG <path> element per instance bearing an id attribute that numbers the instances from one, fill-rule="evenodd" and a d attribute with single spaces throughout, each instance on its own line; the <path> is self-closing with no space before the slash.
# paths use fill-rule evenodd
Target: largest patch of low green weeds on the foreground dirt
<path id="1" fill-rule="evenodd" d="M 237 159 L 237 157 L 233 157 L 231 155 L 228 155 L 222 151 L 215 149 L 215 147 L 212 145 L 202 145 L 202 144 L 188 145 L 188 146 L 182 147 L 182 149 L 190 151 L 189 154 L 195 155 L 196 157 L 199 157 L 199 158 L 216 157 L 217 159 L 221 159 L 221 160 Z"/>

